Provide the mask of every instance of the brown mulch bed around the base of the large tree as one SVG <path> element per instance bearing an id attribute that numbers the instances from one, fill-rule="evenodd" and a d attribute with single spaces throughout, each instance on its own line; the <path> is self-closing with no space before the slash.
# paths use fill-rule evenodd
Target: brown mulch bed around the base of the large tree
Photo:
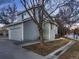
<path id="1" fill-rule="evenodd" d="M 68 40 L 56 40 L 47 42 L 46 45 L 42 46 L 40 45 L 40 43 L 37 43 L 29 46 L 23 46 L 23 48 L 31 50 L 39 55 L 46 56 L 54 50 L 58 49 L 59 47 L 67 44 L 68 42 Z"/>

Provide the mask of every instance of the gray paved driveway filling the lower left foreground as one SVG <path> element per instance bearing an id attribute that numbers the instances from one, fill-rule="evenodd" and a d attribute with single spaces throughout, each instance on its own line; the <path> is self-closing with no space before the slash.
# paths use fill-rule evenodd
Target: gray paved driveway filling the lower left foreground
<path id="1" fill-rule="evenodd" d="M 0 59 L 44 59 L 44 57 L 16 46 L 12 41 L 0 40 Z"/>

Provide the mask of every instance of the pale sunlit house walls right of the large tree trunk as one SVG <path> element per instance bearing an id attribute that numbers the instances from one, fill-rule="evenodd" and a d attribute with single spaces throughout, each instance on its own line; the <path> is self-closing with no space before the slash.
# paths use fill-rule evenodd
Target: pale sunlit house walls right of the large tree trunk
<path id="1" fill-rule="evenodd" d="M 47 40 L 55 40 L 55 35 L 57 34 L 57 26 L 50 23 L 44 25 L 44 38 Z"/>

